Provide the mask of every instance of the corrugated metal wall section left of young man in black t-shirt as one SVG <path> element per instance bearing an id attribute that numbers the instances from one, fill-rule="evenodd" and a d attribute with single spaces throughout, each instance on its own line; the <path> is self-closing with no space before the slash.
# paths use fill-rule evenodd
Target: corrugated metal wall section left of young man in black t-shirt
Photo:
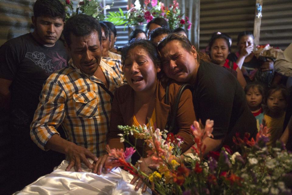
<path id="1" fill-rule="evenodd" d="M 0 1 L 0 45 L 31 31 L 33 3 L 36 0 Z"/>

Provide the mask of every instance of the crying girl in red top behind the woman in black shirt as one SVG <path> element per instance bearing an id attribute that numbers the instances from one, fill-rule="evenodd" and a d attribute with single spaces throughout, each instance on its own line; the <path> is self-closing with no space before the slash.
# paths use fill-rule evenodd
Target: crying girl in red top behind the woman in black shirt
<path id="1" fill-rule="evenodd" d="M 239 84 L 244 88 L 246 82 L 241 70 L 235 62 L 231 62 L 227 59 L 230 49 L 229 38 L 224 34 L 214 35 L 209 42 L 209 48 L 212 62 L 230 69 L 232 73 L 235 73 Z"/>

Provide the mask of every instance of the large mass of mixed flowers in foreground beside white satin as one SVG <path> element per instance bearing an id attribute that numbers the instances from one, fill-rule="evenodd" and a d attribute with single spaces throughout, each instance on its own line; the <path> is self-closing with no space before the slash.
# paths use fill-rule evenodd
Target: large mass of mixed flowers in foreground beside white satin
<path id="1" fill-rule="evenodd" d="M 244 138 L 239 134 L 233 138 L 241 153 L 233 153 L 229 147 L 222 147 L 221 152 L 210 152 L 207 158 L 203 153 L 206 137 L 212 137 L 214 122 L 206 121 L 205 128 L 198 122 L 191 126 L 195 145 L 193 153 L 184 155 L 181 162 L 180 144 L 183 140 L 172 133 L 160 131 L 146 126 L 119 126 L 124 133 L 120 134 L 121 142 L 128 136 L 144 138 L 151 148 L 148 156 L 156 167 L 151 172 L 141 171 L 139 166 L 130 163 L 135 146 L 125 151 L 110 149 L 109 156 L 113 161 L 106 166 L 113 168 L 122 166 L 131 174 L 143 179 L 156 194 L 292 194 L 292 154 L 281 143 L 276 147 L 266 146 L 269 134 L 266 127 L 250 139 L 246 133 Z M 143 163 L 140 161 L 140 163 Z"/>

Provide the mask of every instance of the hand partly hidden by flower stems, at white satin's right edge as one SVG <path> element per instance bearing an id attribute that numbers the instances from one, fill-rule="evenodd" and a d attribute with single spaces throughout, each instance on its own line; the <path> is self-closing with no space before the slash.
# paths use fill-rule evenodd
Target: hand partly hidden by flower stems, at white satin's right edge
<path id="1" fill-rule="evenodd" d="M 151 164 L 152 160 L 151 157 L 147 157 L 147 158 L 140 158 L 141 163 L 136 163 L 135 167 L 138 167 L 140 165 L 140 170 L 142 172 L 144 172 L 146 175 L 148 175 L 149 173 L 151 173 L 151 169 L 148 167 L 148 165 Z M 135 190 L 139 190 L 139 188 L 141 187 L 141 185 L 143 184 L 143 180 L 138 177 L 138 176 L 134 176 L 134 178 L 131 180 L 130 184 L 134 185 L 134 183 L 138 180 L 138 183 L 135 186 Z M 142 188 L 142 193 L 146 192 L 147 190 L 147 185 L 146 183 L 144 183 L 144 186 Z"/>

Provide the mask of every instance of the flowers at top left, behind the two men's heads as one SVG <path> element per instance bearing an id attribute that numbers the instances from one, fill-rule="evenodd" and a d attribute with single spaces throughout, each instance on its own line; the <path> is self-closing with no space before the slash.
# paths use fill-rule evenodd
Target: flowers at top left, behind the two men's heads
<path id="1" fill-rule="evenodd" d="M 102 21 L 105 18 L 103 10 L 110 9 L 110 7 L 113 5 L 106 5 L 103 7 L 100 0 L 79 0 L 76 9 L 74 10 L 74 6 L 71 0 L 60 1 L 65 7 L 66 20 L 76 14 L 86 14 Z"/>

